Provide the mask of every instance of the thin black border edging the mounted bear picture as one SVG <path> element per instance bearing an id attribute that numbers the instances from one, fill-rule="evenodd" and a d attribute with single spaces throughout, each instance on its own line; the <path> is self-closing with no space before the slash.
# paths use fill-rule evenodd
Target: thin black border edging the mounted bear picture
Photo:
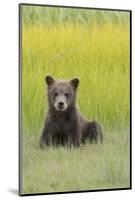
<path id="1" fill-rule="evenodd" d="M 63 6 L 63 5 L 49 5 L 49 4 L 32 4 L 19 3 L 19 196 L 36 196 L 36 195 L 50 195 L 50 194 L 68 194 L 68 193 L 83 193 L 83 192 L 100 192 L 100 191 L 118 191 L 132 189 L 132 10 L 111 9 L 111 8 L 93 8 L 93 7 L 79 7 L 79 6 Z M 78 8 L 102 11 L 119 11 L 130 13 L 130 186 L 126 188 L 112 188 L 112 189 L 95 189 L 95 190 L 80 190 L 80 191 L 64 191 L 64 192 L 48 192 L 48 193 L 22 193 L 22 6 L 42 6 L 42 7 L 58 7 L 58 8 Z"/>

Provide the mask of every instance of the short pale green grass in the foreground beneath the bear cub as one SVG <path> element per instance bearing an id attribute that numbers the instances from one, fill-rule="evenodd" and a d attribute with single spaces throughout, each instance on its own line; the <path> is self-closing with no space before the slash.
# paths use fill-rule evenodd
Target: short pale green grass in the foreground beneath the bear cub
<path id="1" fill-rule="evenodd" d="M 129 133 L 112 133 L 103 145 L 40 150 L 39 138 L 24 138 L 23 193 L 127 188 Z"/>

